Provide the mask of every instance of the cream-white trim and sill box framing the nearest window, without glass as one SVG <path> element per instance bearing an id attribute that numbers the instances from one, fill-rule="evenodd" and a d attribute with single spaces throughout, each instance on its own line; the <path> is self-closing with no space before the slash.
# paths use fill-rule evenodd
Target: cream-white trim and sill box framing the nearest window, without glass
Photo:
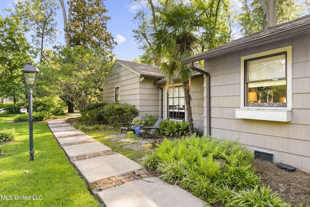
<path id="1" fill-rule="evenodd" d="M 244 61 L 252 58 L 272 55 L 286 51 L 286 88 L 287 102 L 286 107 L 249 107 L 245 106 L 245 74 Z M 272 49 L 241 57 L 241 90 L 240 90 L 240 109 L 235 109 L 235 117 L 241 119 L 255 119 L 267 121 L 289 122 L 292 121 L 292 46 Z"/>

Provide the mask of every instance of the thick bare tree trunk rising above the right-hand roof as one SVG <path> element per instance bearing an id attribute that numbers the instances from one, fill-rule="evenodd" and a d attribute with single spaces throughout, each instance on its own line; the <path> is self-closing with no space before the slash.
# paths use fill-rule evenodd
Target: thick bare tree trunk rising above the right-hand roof
<path id="1" fill-rule="evenodd" d="M 277 0 L 259 0 L 261 7 L 263 9 L 263 20 L 266 21 L 264 28 L 272 27 L 277 25 Z"/>

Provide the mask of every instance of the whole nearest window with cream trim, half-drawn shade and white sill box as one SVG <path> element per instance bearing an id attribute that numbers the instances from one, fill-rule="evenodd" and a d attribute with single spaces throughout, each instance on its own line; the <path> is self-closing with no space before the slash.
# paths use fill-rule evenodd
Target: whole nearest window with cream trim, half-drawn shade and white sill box
<path id="1" fill-rule="evenodd" d="M 292 120 L 292 46 L 241 57 L 240 109 L 235 117 Z"/>

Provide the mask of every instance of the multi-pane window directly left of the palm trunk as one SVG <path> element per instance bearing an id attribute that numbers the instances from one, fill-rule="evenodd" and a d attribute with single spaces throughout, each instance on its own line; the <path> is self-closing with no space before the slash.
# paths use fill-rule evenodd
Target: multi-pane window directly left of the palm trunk
<path id="1" fill-rule="evenodd" d="M 182 86 L 174 86 L 168 95 L 168 116 L 173 119 L 185 118 L 185 97 Z"/>

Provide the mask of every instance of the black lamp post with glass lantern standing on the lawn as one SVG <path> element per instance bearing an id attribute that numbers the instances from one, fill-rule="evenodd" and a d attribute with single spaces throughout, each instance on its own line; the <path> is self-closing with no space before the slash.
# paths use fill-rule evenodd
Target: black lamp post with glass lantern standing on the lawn
<path id="1" fill-rule="evenodd" d="M 23 68 L 23 75 L 25 84 L 28 87 L 28 104 L 29 104 L 29 145 L 30 145 L 30 161 L 33 161 L 33 128 L 32 128 L 32 88 L 37 77 L 39 70 L 34 67 L 30 62 Z"/>

